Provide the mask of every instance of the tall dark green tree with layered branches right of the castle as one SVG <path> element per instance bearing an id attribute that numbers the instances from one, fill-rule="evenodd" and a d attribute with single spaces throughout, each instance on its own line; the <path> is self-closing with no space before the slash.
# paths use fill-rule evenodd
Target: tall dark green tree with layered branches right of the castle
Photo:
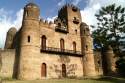
<path id="1" fill-rule="evenodd" d="M 120 39 L 124 38 L 125 33 L 125 8 L 112 4 L 102 7 L 95 16 L 98 21 L 97 29 L 93 31 L 95 47 L 111 45 L 119 54 Z"/>

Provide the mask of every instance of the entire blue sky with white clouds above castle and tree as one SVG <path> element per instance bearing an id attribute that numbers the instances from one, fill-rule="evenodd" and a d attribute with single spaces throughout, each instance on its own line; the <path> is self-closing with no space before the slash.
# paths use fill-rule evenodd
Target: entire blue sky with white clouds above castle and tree
<path id="1" fill-rule="evenodd" d="M 66 3 L 76 5 L 81 10 L 82 21 L 88 25 L 96 24 L 95 14 L 102 6 L 113 3 L 125 7 L 125 0 L 0 0 L 0 48 L 4 47 L 6 33 L 11 27 L 21 27 L 23 8 L 34 2 L 40 8 L 41 18 L 53 21 L 58 10 Z"/>

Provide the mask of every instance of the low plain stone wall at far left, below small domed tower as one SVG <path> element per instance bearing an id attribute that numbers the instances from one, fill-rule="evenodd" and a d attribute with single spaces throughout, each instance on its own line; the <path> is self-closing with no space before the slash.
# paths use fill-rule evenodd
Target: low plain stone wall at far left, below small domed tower
<path id="1" fill-rule="evenodd" d="M 15 61 L 15 49 L 1 50 L 2 67 L 0 71 L 1 77 L 12 77 Z"/>

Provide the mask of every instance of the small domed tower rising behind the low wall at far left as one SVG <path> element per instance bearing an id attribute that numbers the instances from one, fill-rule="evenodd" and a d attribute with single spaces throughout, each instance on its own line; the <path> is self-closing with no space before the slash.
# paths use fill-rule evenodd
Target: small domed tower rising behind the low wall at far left
<path id="1" fill-rule="evenodd" d="M 14 48 L 14 37 L 16 35 L 16 28 L 12 27 L 7 32 L 6 42 L 5 42 L 5 49 L 13 49 Z"/>

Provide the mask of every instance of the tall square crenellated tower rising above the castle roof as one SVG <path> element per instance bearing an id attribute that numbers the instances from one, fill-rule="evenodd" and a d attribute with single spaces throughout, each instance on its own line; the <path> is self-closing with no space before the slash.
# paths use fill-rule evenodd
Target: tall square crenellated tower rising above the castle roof
<path id="1" fill-rule="evenodd" d="M 80 9 L 74 5 L 66 4 L 58 12 L 58 19 L 71 34 L 80 33 L 81 13 Z"/>

